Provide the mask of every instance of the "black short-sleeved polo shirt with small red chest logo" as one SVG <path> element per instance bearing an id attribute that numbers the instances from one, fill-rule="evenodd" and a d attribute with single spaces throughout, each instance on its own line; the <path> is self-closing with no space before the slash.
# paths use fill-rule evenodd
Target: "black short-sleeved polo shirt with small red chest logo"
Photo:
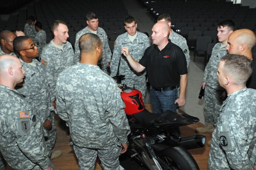
<path id="1" fill-rule="evenodd" d="M 184 52 L 170 40 L 162 51 L 156 45 L 148 47 L 139 63 L 146 67 L 148 81 L 156 88 L 179 86 L 180 75 L 188 73 Z"/>

